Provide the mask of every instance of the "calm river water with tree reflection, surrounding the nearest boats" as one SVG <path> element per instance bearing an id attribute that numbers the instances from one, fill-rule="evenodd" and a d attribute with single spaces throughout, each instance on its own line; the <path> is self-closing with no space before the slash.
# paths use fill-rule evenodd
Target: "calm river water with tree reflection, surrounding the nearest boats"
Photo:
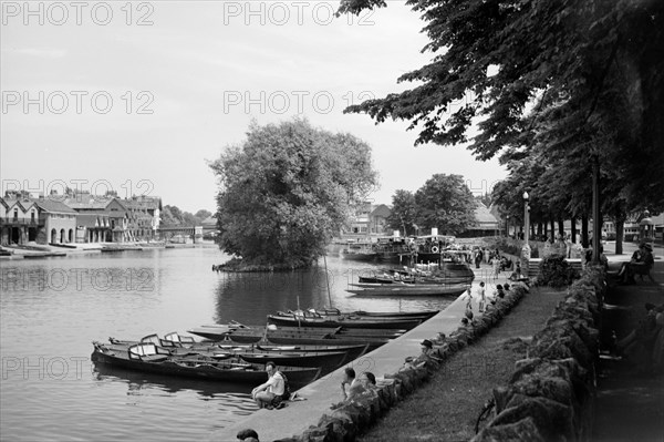
<path id="1" fill-rule="evenodd" d="M 276 310 L 440 309 L 445 298 L 357 298 L 345 292 L 375 268 L 338 253 L 288 274 L 210 270 L 216 247 L 75 254 L 2 260 L 0 439 L 3 441 L 184 441 L 252 413 L 250 386 L 183 380 L 103 367 L 92 341 L 184 332 L 235 319 L 264 323 Z M 330 284 L 328 294 L 326 280 Z"/>

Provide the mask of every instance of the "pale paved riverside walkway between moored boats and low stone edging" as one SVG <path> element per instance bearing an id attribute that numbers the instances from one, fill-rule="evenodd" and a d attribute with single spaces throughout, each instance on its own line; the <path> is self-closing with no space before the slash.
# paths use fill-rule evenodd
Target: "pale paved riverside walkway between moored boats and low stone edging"
<path id="1" fill-rule="evenodd" d="M 486 265 L 474 271 L 476 271 L 476 278 L 473 285 L 473 309 L 478 318 L 480 317 L 480 313 L 477 313 L 479 281 L 484 280 L 487 284 L 487 300 L 489 300 L 492 288 L 497 284 L 505 284 L 509 274 L 502 273 L 497 279 L 488 278 L 489 266 Z M 385 374 L 397 372 L 407 357 L 421 353 L 419 342 L 423 339 L 435 338 L 438 333 L 449 335 L 460 326 L 461 318 L 466 312 L 464 298 L 465 295 L 459 296 L 426 322 L 300 389 L 298 395 L 305 400 L 288 402 L 288 407 L 281 410 L 258 410 L 247 419 L 210 434 L 209 441 L 232 441 L 236 440 L 238 431 L 249 428 L 258 432 L 261 441 L 274 441 L 303 433 L 310 425 L 317 425 L 323 414 L 331 413 L 330 405 L 332 403 L 343 399 L 340 392 L 340 382 L 345 367 L 353 367 L 357 376 L 363 371 L 371 371 L 380 383 Z"/>

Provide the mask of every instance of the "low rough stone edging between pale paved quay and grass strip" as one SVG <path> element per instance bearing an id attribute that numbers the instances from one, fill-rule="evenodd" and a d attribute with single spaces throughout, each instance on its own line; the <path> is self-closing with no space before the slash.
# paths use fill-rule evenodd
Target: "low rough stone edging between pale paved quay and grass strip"
<path id="1" fill-rule="evenodd" d="M 385 374 L 385 379 L 378 381 L 376 398 L 360 399 L 334 411 L 331 410 L 320 419 L 317 425 L 311 425 L 304 433 L 279 441 L 342 442 L 355 440 L 390 408 L 426 382 L 447 358 L 479 339 L 498 323 L 527 291 L 526 286 L 515 285 L 511 290 L 506 292 L 505 298 L 499 299 L 495 305 L 489 304 L 484 315 L 474 320 L 471 325 L 459 327 L 447 338 L 432 337 L 430 340 L 435 345 L 434 356 L 439 361 L 430 360 L 422 368 L 408 368 L 396 373 Z"/>

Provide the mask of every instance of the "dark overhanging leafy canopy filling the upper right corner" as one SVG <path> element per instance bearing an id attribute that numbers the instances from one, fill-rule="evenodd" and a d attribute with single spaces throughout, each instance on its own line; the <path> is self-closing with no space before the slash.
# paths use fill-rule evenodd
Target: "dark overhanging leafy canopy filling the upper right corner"
<path id="1" fill-rule="evenodd" d="M 504 162 L 542 160 L 552 169 L 548 178 L 567 175 L 579 191 L 548 209 L 581 210 L 590 185 L 579 177 L 600 174 L 618 181 L 629 205 L 664 208 L 664 2 L 406 3 L 426 22 L 432 62 L 400 78 L 413 89 L 347 112 L 408 121 L 416 144 L 469 141 L 479 160 L 500 153 Z M 340 12 L 385 6 L 342 0 Z M 479 132 L 468 140 L 473 124 Z"/>

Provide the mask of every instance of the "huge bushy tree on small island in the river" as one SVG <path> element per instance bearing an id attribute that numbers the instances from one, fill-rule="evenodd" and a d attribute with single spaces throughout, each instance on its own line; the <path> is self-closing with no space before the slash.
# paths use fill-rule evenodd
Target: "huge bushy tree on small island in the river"
<path id="1" fill-rule="evenodd" d="M 209 165 L 220 184 L 217 241 L 247 268 L 311 265 L 376 184 L 366 143 L 300 119 L 252 122 Z"/>

